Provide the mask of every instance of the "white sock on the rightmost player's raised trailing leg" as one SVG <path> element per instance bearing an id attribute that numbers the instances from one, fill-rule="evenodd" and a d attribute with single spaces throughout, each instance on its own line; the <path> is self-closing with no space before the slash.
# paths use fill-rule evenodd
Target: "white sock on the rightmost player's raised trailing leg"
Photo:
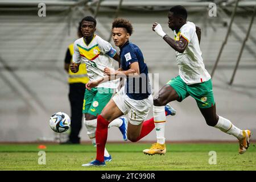
<path id="1" fill-rule="evenodd" d="M 232 122 L 229 121 L 229 119 L 223 118 L 220 115 L 218 116 L 218 123 L 216 126 L 217 129 L 220 129 L 221 131 L 233 135 L 238 140 L 243 139 L 243 132 L 241 129 L 238 129 L 238 127 L 234 126 Z"/>

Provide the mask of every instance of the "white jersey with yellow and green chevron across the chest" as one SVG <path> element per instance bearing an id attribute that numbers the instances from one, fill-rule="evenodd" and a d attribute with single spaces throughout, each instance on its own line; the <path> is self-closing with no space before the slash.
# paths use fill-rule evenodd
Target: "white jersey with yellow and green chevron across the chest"
<path id="1" fill-rule="evenodd" d="M 74 43 L 73 62 L 86 64 L 87 74 L 90 80 L 104 77 L 104 68 L 114 69 L 114 57 L 116 51 L 109 42 L 98 35 L 94 35 L 87 45 L 84 38 L 77 39 Z M 104 82 L 99 88 L 117 88 L 119 80 Z"/>

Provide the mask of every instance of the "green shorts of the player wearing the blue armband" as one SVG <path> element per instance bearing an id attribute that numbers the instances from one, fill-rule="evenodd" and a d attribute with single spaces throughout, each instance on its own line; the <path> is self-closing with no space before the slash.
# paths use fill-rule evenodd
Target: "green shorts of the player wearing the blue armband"
<path id="1" fill-rule="evenodd" d="M 103 108 L 108 104 L 114 89 L 109 88 L 92 88 L 86 89 L 84 94 L 84 104 L 82 106 L 82 113 L 88 113 L 92 115 L 99 115 Z"/>

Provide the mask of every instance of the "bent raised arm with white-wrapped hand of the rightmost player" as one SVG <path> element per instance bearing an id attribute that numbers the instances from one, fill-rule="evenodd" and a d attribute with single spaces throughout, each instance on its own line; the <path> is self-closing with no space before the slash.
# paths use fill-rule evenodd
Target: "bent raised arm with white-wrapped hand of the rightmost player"
<path id="1" fill-rule="evenodd" d="M 183 36 L 180 37 L 180 40 L 174 40 L 170 38 L 166 33 L 164 33 L 162 27 L 158 23 L 154 23 L 152 30 L 156 32 L 159 36 L 161 36 L 175 51 L 183 53 L 185 48 L 188 46 L 188 40 L 184 39 Z"/>

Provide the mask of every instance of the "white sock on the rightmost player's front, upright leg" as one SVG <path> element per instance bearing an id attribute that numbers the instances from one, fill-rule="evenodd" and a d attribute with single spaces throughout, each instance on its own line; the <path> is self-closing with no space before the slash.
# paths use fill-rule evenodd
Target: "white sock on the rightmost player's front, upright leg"
<path id="1" fill-rule="evenodd" d="M 164 128 L 166 126 L 166 111 L 164 110 L 164 106 L 153 106 L 153 114 L 157 142 L 164 144 L 166 142 L 166 138 L 164 138 Z"/>

